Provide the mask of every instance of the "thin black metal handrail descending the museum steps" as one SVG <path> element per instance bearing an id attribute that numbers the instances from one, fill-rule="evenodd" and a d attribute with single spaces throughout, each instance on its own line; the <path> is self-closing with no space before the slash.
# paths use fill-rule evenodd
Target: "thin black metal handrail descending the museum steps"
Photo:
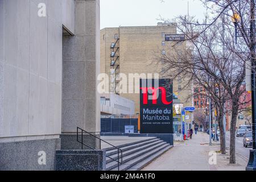
<path id="1" fill-rule="evenodd" d="M 79 131 L 81 131 L 81 140 L 79 140 Z M 85 143 L 84 143 L 84 141 L 83 141 L 83 137 L 84 137 L 83 134 L 84 134 L 84 133 L 89 134 L 90 136 L 92 136 L 92 137 L 97 138 L 97 139 L 100 140 L 100 150 L 101 150 L 101 142 L 105 142 L 106 144 L 109 144 L 110 146 L 112 146 L 112 147 L 114 147 L 114 148 L 117 149 L 117 160 L 111 158 L 111 157 L 108 156 L 108 155 L 106 155 L 106 157 L 109 158 L 109 159 L 114 160 L 115 162 L 117 162 L 117 164 L 118 164 L 118 171 L 119 171 L 119 166 L 120 166 L 120 164 L 123 163 L 123 151 L 122 151 L 120 148 L 118 148 L 118 147 L 116 147 L 116 146 L 113 146 L 113 144 L 110 144 L 109 142 L 106 142 L 105 140 L 102 140 L 101 138 L 98 138 L 97 136 L 95 136 L 95 135 L 89 133 L 88 131 L 85 131 L 85 130 L 81 129 L 80 127 L 77 127 L 77 130 L 76 130 L 76 139 L 77 139 L 77 142 L 81 143 L 81 148 L 82 148 L 82 150 L 84 150 L 84 149 L 83 149 L 84 146 L 89 147 L 89 148 L 92 149 L 92 150 L 97 150 L 96 148 L 93 148 L 93 147 L 91 147 L 91 146 L 88 146 L 88 144 L 85 144 Z M 120 160 L 119 160 L 119 159 L 120 159 L 119 152 L 121 153 L 121 162 L 120 162 Z"/>

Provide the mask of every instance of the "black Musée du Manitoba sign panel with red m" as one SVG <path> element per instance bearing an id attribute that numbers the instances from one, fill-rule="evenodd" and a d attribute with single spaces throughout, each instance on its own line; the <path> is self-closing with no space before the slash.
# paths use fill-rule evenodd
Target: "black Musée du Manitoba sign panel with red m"
<path id="1" fill-rule="evenodd" d="M 141 133 L 173 134 L 172 82 L 141 80 Z"/>

